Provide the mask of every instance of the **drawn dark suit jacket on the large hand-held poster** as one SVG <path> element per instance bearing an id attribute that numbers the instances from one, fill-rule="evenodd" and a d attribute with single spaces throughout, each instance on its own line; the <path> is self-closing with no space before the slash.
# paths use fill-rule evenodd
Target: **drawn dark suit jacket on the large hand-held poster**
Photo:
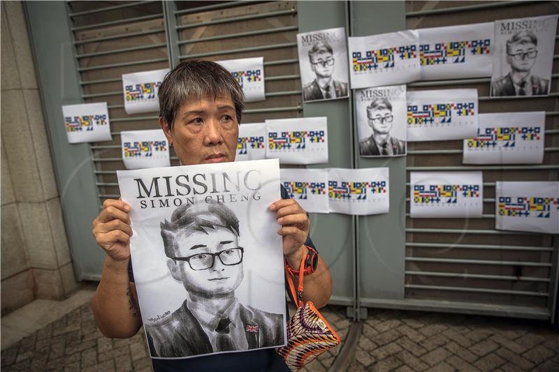
<path id="1" fill-rule="evenodd" d="M 283 344 L 282 314 L 266 313 L 242 304 L 239 304 L 239 312 L 249 349 Z M 247 332 L 247 325 L 256 327 L 249 327 L 252 332 Z M 145 332 L 152 357 L 188 357 L 214 351 L 208 335 L 187 308 L 186 301 L 171 315 L 146 324 Z"/>

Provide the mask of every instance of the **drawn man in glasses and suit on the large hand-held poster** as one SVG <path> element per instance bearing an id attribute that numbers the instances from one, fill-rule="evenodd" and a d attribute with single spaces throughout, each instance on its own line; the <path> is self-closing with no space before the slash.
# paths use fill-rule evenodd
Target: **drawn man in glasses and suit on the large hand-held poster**
<path id="1" fill-rule="evenodd" d="M 147 320 L 152 357 L 266 348 L 283 343 L 282 314 L 244 306 L 235 297 L 242 259 L 239 220 L 219 202 L 184 205 L 161 223 L 167 267 L 187 292 L 182 306 Z M 252 251 L 252 252 L 249 252 Z"/>

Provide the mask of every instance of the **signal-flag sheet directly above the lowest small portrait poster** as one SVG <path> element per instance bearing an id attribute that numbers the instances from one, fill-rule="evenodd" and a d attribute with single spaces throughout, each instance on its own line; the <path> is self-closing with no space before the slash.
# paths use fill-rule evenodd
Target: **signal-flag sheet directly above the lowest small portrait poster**
<path id="1" fill-rule="evenodd" d="M 417 31 L 348 38 L 351 89 L 404 84 L 421 78 Z"/>

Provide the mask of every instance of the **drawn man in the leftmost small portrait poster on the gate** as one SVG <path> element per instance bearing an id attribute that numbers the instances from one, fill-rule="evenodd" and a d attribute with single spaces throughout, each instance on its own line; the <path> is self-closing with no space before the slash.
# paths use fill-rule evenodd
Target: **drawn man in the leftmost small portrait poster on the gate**
<path id="1" fill-rule="evenodd" d="M 333 79 L 335 59 L 326 41 L 314 43 L 309 50 L 310 68 L 316 75 L 303 87 L 303 101 L 315 101 L 347 96 L 347 82 Z"/>

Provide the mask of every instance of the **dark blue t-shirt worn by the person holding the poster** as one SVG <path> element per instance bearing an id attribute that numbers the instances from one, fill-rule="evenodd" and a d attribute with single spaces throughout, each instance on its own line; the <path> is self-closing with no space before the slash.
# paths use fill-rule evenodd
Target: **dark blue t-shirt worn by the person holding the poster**
<path id="1" fill-rule="evenodd" d="M 282 199 L 290 199 L 284 186 L 281 186 L 281 192 Z M 305 245 L 316 249 L 310 236 L 307 237 Z M 128 264 L 128 276 L 133 282 L 132 260 Z M 290 372 L 282 357 L 279 357 L 273 348 L 228 352 L 189 359 L 152 359 L 152 364 L 154 372 Z"/>

